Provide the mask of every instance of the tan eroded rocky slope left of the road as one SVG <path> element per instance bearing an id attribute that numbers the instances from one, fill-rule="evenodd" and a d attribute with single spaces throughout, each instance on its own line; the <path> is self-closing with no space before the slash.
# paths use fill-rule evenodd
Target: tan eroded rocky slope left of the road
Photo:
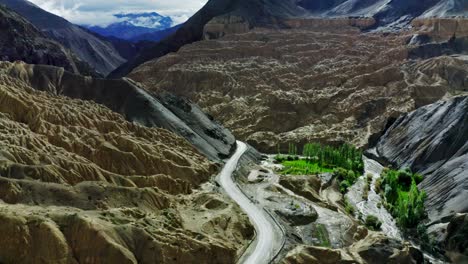
<path id="1" fill-rule="evenodd" d="M 167 130 L 37 91 L 11 67 L 0 64 L 2 263 L 235 261 L 252 229 L 206 183 L 213 163 Z"/>

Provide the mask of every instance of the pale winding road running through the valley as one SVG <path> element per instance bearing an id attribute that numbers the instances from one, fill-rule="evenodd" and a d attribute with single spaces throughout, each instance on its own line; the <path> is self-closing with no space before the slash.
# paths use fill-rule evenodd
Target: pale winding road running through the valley
<path id="1" fill-rule="evenodd" d="M 237 141 L 237 149 L 234 155 L 226 162 L 219 176 L 221 187 L 249 216 L 253 223 L 257 236 L 254 243 L 246 250 L 240 263 L 263 264 L 270 263 L 276 252 L 281 249 L 283 233 L 272 217 L 262 208 L 255 205 L 239 189 L 232 178 L 242 155 L 247 151 L 247 145 Z"/>

